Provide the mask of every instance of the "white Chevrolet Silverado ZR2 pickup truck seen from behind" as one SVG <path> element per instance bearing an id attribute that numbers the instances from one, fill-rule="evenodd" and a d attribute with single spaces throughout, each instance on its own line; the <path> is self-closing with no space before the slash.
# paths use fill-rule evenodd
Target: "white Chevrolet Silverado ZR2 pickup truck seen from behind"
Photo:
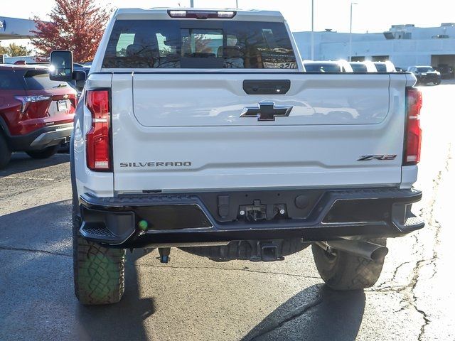
<path id="1" fill-rule="evenodd" d="M 81 80 L 55 51 L 50 77 Z M 65 67 L 68 65 L 68 68 Z M 71 144 L 75 293 L 118 302 L 125 250 L 277 261 L 373 286 L 411 213 L 422 97 L 405 73 L 305 72 L 281 13 L 119 9 Z"/>

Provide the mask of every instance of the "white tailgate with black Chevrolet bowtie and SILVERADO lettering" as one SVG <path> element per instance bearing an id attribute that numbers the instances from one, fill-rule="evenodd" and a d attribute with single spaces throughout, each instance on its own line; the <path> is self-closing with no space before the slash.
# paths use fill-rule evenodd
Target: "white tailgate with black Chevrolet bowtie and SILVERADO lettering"
<path id="1" fill-rule="evenodd" d="M 245 80 L 290 88 L 247 94 Z M 114 190 L 396 185 L 405 87 L 405 75 L 114 74 Z"/>

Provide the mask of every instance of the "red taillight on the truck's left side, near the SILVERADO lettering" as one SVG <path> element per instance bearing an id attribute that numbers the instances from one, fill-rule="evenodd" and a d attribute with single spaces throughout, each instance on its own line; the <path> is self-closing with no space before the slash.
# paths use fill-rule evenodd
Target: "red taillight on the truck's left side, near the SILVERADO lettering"
<path id="1" fill-rule="evenodd" d="M 109 91 L 88 90 L 86 105 L 92 113 L 92 128 L 87 133 L 87 167 L 110 171 Z"/>

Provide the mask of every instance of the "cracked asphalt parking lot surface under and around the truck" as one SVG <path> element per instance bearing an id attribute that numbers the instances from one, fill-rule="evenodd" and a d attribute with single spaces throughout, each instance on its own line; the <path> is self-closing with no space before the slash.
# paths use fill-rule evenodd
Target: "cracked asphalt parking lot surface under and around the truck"
<path id="1" fill-rule="evenodd" d="M 274 263 L 213 263 L 180 250 L 128 254 L 112 306 L 73 295 L 69 156 L 16 153 L 0 171 L 0 340 L 455 340 L 451 241 L 455 85 L 422 87 L 416 187 L 427 227 L 392 239 L 377 285 L 337 293 L 311 250 Z"/>

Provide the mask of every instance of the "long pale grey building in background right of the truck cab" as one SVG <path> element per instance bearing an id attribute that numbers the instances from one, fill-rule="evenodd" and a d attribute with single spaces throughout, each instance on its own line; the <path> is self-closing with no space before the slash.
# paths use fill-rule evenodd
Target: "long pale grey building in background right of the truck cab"
<path id="1" fill-rule="evenodd" d="M 349 33 L 314 33 L 314 59 L 349 58 Z M 311 59 L 311 32 L 294 33 L 301 57 Z M 393 25 L 383 33 L 353 33 L 353 60 L 391 60 L 398 67 L 449 65 L 455 67 L 455 23 L 439 27 Z"/>

